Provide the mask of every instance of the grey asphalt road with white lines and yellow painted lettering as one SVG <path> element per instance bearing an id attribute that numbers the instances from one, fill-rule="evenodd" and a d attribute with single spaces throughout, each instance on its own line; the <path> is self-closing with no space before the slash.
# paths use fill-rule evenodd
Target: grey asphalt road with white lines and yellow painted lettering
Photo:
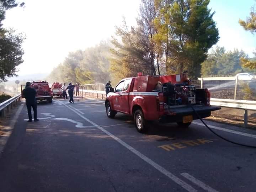
<path id="1" fill-rule="evenodd" d="M 105 106 L 95 100 L 41 102 L 40 121 L 27 118 L 23 105 L 0 158 L 0 192 L 256 188 L 256 149 L 225 142 L 199 121 L 188 129 L 153 123 L 141 134 L 131 117 L 109 119 Z M 226 138 L 256 145 L 255 131 L 207 123 Z"/>

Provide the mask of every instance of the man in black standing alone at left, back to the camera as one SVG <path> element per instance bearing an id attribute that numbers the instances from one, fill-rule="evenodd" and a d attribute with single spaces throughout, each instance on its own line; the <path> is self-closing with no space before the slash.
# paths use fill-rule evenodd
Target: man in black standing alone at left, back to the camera
<path id="1" fill-rule="evenodd" d="M 23 89 L 22 95 L 26 98 L 26 105 L 28 110 L 28 122 L 32 122 L 31 107 L 34 112 L 34 121 L 39 121 L 37 119 L 37 102 L 36 102 L 36 90 L 31 88 L 31 82 L 26 82 L 26 88 Z"/>

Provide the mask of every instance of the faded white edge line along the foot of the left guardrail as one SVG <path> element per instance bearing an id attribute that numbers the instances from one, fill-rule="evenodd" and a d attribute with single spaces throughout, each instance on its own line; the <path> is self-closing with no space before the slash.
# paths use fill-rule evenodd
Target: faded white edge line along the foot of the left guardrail
<path id="1" fill-rule="evenodd" d="M 10 120 L 11 121 L 9 124 L 10 130 L 0 137 L 0 157 L 1 157 L 2 151 L 4 150 L 5 144 L 7 143 L 8 139 L 12 133 L 12 129 L 14 128 L 15 123 L 17 122 L 17 119 L 20 115 L 20 112 L 21 112 L 23 106 L 24 106 L 24 104 L 22 103 L 18 107 L 18 110 L 15 113 L 15 116 Z"/>

